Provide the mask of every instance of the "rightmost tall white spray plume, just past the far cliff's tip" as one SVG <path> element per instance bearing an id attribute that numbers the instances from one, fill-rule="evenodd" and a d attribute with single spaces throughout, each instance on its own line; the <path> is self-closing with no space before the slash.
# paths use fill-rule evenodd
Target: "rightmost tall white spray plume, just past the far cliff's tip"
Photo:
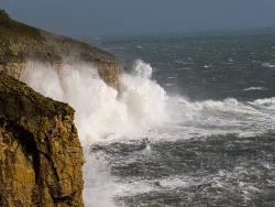
<path id="1" fill-rule="evenodd" d="M 168 119 L 165 90 L 151 80 L 152 67 L 136 61 L 132 74 L 120 78 L 120 98 L 128 109 L 128 121 L 138 129 L 155 128 Z M 131 131 L 130 131 L 131 132 Z"/>

